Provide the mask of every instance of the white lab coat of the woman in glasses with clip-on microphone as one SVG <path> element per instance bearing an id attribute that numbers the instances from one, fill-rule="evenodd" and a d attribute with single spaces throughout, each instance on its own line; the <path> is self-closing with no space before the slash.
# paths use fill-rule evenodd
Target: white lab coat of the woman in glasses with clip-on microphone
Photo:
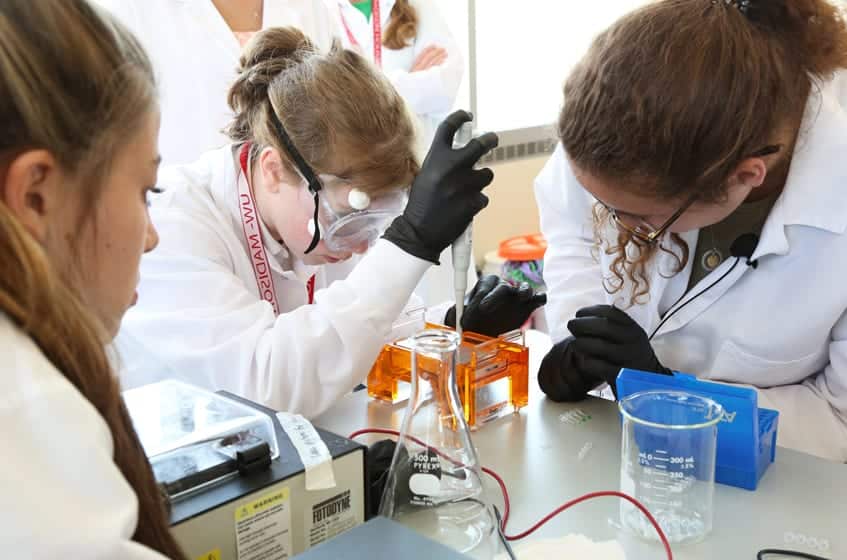
<path id="1" fill-rule="evenodd" d="M 842 462 L 847 461 L 845 154 L 847 72 L 842 72 L 810 96 L 788 181 L 753 254 L 758 268 L 739 264 L 669 319 L 653 340 L 667 367 L 756 387 L 760 406 L 781 413 L 781 445 Z M 561 146 L 535 189 L 549 242 L 547 321 L 558 341 L 570 334 L 567 321 L 579 308 L 623 306 L 629 298 L 603 289 L 610 257 L 602 251 L 599 262 L 592 257 L 593 199 L 574 178 Z M 692 254 L 697 235 L 682 236 Z M 710 285 L 734 260 L 727 259 L 690 293 Z M 692 263 L 667 277 L 673 264 L 659 253 L 649 271 L 649 302 L 627 309 L 647 333 L 687 288 Z"/>

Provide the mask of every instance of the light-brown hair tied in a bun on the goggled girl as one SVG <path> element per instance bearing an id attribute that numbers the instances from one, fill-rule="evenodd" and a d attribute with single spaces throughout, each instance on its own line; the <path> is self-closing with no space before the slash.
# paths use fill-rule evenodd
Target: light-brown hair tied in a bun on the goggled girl
<path id="1" fill-rule="evenodd" d="M 415 130 L 402 98 L 358 54 L 336 42 L 322 53 L 294 28 L 259 32 L 241 56 L 229 91 L 235 118 L 227 134 L 256 149 L 277 148 L 274 111 L 316 173 L 343 161 L 360 189 L 374 193 L 411 183 L 418 171 Z"/>

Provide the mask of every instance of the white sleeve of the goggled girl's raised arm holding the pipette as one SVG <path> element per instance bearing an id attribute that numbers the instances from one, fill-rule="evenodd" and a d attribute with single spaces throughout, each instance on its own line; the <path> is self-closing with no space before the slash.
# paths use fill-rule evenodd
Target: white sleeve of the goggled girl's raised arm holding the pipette
<path id="1" fill-rule="evenodd" d="M 124 321 L 132 338 L 185 381 L 310 417 L 365 379 L 429 266 L 380 240 L 314 305 L 275 317 L 231 266 L 207 256 L 228 254 L 210 248 L 210 227 L 166 216 L 156 220 L 161 245 L 142 259 L 142 307 Z"/>

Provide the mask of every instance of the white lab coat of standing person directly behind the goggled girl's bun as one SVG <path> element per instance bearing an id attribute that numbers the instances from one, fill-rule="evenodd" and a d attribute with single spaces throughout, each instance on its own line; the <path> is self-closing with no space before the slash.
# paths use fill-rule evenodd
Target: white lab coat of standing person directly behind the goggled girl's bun
<path id="1" fill-rule="evenodd" d="M 227 92 L 241 45 L 211 0 L 95 0 L 141 40 L 161 92 L 165 164 L 191 163 L 229 140 Z M 262 28 L 293 26 L 329 48 L 336 19 L 320 0 L 265 0 Z"/>

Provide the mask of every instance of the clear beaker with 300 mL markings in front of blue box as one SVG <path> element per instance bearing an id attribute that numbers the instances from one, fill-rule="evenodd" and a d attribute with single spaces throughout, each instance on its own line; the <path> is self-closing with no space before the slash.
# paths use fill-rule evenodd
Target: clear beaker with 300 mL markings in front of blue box
<path id="1" fill-rule="evenodd" d="M 644 504 L 672 543 L 696 542 L 712 530 L 715 454 L 723 407 L 678 391 L 644 391 L 618 403 L 623 415 L 621 491 Z M 629 502 L 621 524 L 658 540 Z"/>

